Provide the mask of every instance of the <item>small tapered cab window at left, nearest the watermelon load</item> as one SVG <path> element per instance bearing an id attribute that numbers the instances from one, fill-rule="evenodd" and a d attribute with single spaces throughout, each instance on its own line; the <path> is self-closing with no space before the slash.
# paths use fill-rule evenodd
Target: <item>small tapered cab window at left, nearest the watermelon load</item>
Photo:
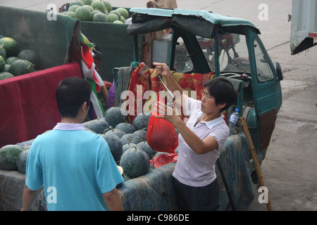
<path id="1" fill-rule="evenodd" d="M 192 60 L 188 56 L 182 37 L 179 37 L 176 42 L 174 68 L 176 72 L 188 72 L 193 68 Z"/>

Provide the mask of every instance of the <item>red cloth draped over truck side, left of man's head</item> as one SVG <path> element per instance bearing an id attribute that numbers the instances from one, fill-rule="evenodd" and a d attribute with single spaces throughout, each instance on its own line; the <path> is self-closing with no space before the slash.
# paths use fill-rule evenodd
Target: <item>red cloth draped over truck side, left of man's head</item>
<path id="1" fill-rule="evenodd" d="M 81 77 L 78 63 L 68 63 L 0 80 L 0 148 L 35 139 L 61 120 L 55 91 L 66 77 Z"/>

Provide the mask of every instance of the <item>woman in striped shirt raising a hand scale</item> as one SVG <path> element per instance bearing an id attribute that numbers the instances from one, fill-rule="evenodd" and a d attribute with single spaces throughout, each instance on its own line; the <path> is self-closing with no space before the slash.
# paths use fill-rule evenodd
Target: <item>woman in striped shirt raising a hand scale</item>
<path id="1" fill-rule="evenodd" d="M 174 124 L 179 131 L 178 162 L 173 172 L 176 200 L 180 210 L 218 210 L 220 187 L 215 163 L 220 148 L 229 135 L 229 128 L 221 112 L 235 103 L 237 92 L 228 79 L 216 77 L 204 83 L 201 101 L 182 93 L 165 63 L 153 63 L 156 75 L 165 77 L 170 91 L 180 91 L 180 105 L 189 116 L 185 124 L 179 114 L 168 114 L 170 108 L 161 102 L 154 105 L 161 117 Z"/>

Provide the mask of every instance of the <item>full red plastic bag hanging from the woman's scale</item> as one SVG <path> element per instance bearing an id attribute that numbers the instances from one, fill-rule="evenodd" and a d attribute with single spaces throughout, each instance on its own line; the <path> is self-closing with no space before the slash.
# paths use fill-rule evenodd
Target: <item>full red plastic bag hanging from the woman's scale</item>
<path id="1" fill-rule="evenodd" d="M 161 96 L 158 96 L 158 101 L 163 103 Z M 172 123 L 155 117 L 156 115 L 156 110 L 153 110 L 147 127 L 147 143 L 158 152 L 175 153 L 178 147 L 175 127 Z"/>

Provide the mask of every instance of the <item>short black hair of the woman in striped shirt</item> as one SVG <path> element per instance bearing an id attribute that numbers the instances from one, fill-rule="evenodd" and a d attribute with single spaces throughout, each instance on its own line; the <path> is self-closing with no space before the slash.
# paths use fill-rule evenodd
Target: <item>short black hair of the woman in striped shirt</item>
<path id="1" fill-rule="evenodd" d="M 209 79 L 203 85 L 208 90 L 209 95 L 215 98 L 216 105 L 225 103 L 225 107 L 222 110 L 228 109 L 237 101 L 237 91 L 235 91 L 229 79 L 216 77 Z"/>

